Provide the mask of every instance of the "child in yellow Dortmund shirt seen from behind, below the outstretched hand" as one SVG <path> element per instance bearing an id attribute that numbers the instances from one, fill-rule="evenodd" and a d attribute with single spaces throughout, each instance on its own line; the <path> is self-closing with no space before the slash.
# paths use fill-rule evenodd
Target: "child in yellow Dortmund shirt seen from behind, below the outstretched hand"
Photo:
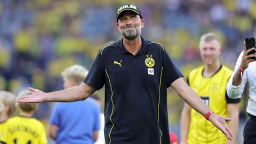
<path id="1" fill-rule="evenodd" d="M 21 91 L 18 97 L 30 94 Z M 37 109 L 38 103 L 17 103 L 19 115 L 11 117 L 5 124 L 3 141 L 6 143 L 47 143 L 44 125 L 31 116 Z"/>

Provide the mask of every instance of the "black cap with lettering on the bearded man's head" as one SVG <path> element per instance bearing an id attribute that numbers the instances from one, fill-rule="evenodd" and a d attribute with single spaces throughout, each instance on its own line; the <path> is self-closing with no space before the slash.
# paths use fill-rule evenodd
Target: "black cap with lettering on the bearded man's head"
<path id="1" fill-rule="evenodd" d="M 141 12 L 140 12 L 138 6 L 136 6 L 135 4 L 123 4 L 123 5 L 119 6 L 118 9 L 117 9 L 117 12 L 116 12 L 116 21 L 118 22 L 118 17 L 119 17 L 119 15 L 120 15 L 123 11 L 128 11 L 128 10 L 129 10 L 129 11 L 133 11 L 133 12 L 139 14 L 139 15 L 140 15 L 140 18 L 142 18 Z"/>

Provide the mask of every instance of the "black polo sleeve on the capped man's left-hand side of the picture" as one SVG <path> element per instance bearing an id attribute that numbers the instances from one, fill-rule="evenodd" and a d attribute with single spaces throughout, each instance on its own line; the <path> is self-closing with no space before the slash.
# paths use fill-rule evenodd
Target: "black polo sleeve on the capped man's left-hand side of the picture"
<path id="1" fill-rule="evenodd" d="M 102 53 L 95 58 L 84 83 L 93 86 L 96 90 L 101 89 L 105 83 L 105 72 Z"/>

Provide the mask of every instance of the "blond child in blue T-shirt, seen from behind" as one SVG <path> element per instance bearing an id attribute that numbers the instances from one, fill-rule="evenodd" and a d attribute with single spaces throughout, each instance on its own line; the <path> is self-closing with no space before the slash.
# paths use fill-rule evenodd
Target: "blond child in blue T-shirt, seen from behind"
<path id="1" fill-rule="evenodd" d="M 82 84 L 88 70 L 73 65 L 62 71 L 63 87 Z M 84 119 L 81 121 L 81 119 Z M 100 130 L 100 106 L 92 98 L 75 102 L 57 102 L 50 119 L 49 135 L 56 143 L 93 143 Z"/>

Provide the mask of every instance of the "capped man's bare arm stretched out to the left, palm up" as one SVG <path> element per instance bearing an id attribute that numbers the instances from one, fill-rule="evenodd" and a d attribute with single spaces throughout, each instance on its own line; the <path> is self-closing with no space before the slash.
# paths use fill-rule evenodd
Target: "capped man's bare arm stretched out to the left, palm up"
<path id="1" fill-rule="evenodd" d="M 85 100 L 95 92 L 95 89 L 86 83 L 83 83 L 80 86 L 70 87 L 69 89 L 49 92 L 49 93 L 44 93 L 40 90 L 33 89 L 31 87 L 29 87 L 28 90 L 33 92 L 33 94 L 19 98 L 17 102 L 33 102 L 33 103 L 44 102 L 44 101 L 71 102 L 71 101 Z"/>

